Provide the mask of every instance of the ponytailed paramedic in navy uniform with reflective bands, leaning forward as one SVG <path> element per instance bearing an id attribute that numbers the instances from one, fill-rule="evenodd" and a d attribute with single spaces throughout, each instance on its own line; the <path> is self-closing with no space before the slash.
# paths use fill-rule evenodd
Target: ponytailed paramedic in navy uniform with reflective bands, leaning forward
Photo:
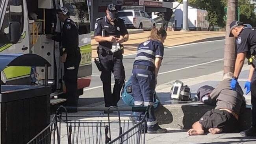
<path id="1" fill-rule="evenodd" d="M 132 92 L 135 106 L 148 106 L 147 133 L 166 133 L 158 126 L 154 116 L 155 93 L 158 71 L 163 59 L 163 42 L 167 33 L 162 28 L 153 28 L 148 41 L 139 44 L 132 70 Z M 137 113 L 140 114 L 140 113 Z"/>

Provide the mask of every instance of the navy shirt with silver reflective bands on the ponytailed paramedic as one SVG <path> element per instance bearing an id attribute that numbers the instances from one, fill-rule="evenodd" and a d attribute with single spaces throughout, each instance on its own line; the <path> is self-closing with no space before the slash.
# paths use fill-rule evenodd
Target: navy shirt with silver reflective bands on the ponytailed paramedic
<path id="1" fill-rule="evenodd" d="M 134 65 L 155 67 L 155 58 L 163 59 L 163 43 L 156 40 L 148 40 L 139 44 Z"/>

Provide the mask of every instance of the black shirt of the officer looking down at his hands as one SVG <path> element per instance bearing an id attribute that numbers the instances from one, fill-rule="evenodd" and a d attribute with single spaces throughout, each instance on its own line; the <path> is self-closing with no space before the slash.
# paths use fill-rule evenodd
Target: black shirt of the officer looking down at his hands
<path id="1" fill-rule="evenodd" d="M 121 18 L 116 18 L 114 21 L 114 25 L 110 23 L 107 16 L 98 18 L 95 23 L 94 36 L 102 36 L 102 30 L 105 31 L 105 37 L 111 35 L 114 37 L 120 37 L 120 35 L 124 36 L 128 34 L 128 31 L 126 30 L 124 24 L 124 20 L 122 20 Z M 104 50 L 106 51 L 110 51 L 112 48 L 112 42 L 99 42 L 99 46 L 104 48 Z"/>

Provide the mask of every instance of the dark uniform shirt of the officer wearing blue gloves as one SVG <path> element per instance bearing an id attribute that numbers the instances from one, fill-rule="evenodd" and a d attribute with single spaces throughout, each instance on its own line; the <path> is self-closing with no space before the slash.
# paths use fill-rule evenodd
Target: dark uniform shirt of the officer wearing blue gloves
<path id="1" fill-rule="evenodd" d="M 247 52 L 246 58 L 250 58 L 250 48 L 256 45 L 256 30 L 244 27 L 236 38 L 237 54 Z"/>

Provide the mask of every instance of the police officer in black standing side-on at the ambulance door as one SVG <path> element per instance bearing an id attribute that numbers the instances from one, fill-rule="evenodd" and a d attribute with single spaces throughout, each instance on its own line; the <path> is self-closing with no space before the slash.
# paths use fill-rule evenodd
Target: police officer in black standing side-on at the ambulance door
<path id="1" fill-rule="evenodd" d="M 77 78 L 78 68 L 81 61 L 80 48 L 78 46 L 78 28 L 76 24 L 69 18 L 70 12 L 67 7 L 61 7 L 58 11 L 58 17 L 61 22 L 64 22 L 61 36 L 47 35 L 48 39 L 61 41 L 61 57 L 60 60 L 64 63 L 64 82 L 66 86 L 67 102 L 65 106 L 77 107 Z"/>

